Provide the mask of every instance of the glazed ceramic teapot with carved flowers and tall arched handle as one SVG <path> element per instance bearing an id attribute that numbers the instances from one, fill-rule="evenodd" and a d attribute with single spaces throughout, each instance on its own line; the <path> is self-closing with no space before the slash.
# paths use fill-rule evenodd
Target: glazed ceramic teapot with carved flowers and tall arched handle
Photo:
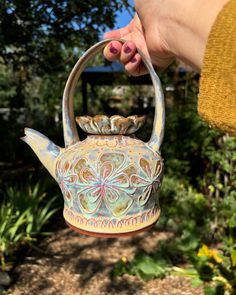
<path id="1" fill-rule="evenodd" d="M 76 118 L 89 133 L 79 140 L 73 108 L 75 87 L 88 60 L 112 40 L 117 39 L 103 40 L 87 50 L 67 80 L 62 104 L 65 148 L 29 128 L 22 138 L 58 182 L 66 223 L 80 233 L 100 237 L 132 235 L 154 225 L 160 215 L 158 190 L 163 176 L 163 92 L 152 64 L 140 50 L 155 90 L 150 140 L 143 142 L 133 135 L 142 125 L 142 117 L 102 115 Z"/>

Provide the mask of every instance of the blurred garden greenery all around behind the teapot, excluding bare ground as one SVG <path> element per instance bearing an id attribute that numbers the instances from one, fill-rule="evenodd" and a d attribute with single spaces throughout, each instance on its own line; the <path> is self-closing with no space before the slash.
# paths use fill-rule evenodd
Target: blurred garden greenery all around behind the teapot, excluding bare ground
<path id="1" fill-rule="evenodd" d="M 115 26 L 124 9 L 134 13 L 125 0 L 0 1 L 0 293 L 14 292 L 27 257 L 39 253 L 45 257 L 43 243 L 53 235 L 60 239 L 65 228 L 61 192 L 20 140 L 24 127 L 39 130 L 63 146 L 61 98 L 70 70 L 85 49 Z M 90 66 L 106 64 L 100 55 Z M 147 140 L 153 119 L 149 87 L 126 86 L 118 91 L 118 99 L 111 100 L 125 76 L 111 86 L 88 87 L 89 114 L 145 113 L 146 125 L 137 136 Z M 204 294 L 236 294 L 236 139 L 199 118 L 197 74 L 174 64 L 160 78 L 166 97 L 165 177 L 159 196 L 161 218 L 150 232 L 156 244 L 145 248 L 137 243 L 130 257 L 122 251 L 120 257 L 114 254 L 106 275 L 114 280 L 116 292 L 115 280 L 122 282 L 126 276 L 147 285 L 175 276 L 188 278 Z M 82 109 L 81 88 L 79 83 L 76 115 Z M 163 240 L 156 239 L 163 233 Z M 69 230 L 67 234 L 81 241 L 78 234 Z M 97 243 L 103 251 L 102 242 Z M 119 293 L 112 293 L 113 289 L 96 294 L 149 294 L 139 287 L 128 286 Z M 153 292 L 162 294 L 155 288 Z"/>

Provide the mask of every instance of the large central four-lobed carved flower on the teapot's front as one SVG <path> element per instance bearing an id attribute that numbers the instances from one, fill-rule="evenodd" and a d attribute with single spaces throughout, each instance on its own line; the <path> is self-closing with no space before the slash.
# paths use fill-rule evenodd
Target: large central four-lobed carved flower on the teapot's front
<path id="1" fill-rule="evenodd" d="M 77 162 L 75 170 L 80 183 L 77 196 L 83 211 L 95 213 L 104 202 L 117 217 L 130 208 L 135 188 L 125 173 L 127 165 L 125 156 L 119 153 L 103 154 L 95 167 L 88 165 L 85 159 Z"/>

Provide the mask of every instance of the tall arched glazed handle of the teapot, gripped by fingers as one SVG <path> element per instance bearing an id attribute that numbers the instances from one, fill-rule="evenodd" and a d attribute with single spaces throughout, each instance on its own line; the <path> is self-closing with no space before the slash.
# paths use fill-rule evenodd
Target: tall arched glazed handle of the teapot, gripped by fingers
<path id="1" fill-rule="evenodd" d="M 63 132 L 64 132 L 64 141 L 65 141 L 66 147 L 79 141 L 79 136 L 76 129 L 76 123 L 74 118 L 74 103 L 73 103 L 75 88 L 76 88 L 78 79 L 81 73 L 83 72 L 86 66 L 86 63 L 111 41 L 119 41 L 122 43 L 126 42 L 126 40 L 122 40 L 122 39 L 106 39 L 106 40 L 98 42 L 97 44 L 89 48 L 80 57 L 80 59 L 75 64 L 67 80 L 67 83 L 64 89 L 63 103 L 62 103 Z M 155 152 L 158 152 L 160 150 L 160 146 L 163 140 L 164 128 L 165 128 L 164 95 L 163 95 L 160 79 L 157 76 L 151 62 L 144 56 L 144 54 L 141 52 L 140 49 L 138 49 L 138 53 L 141 55 L 142 60 L 149 71 L 149 74 L 151 76 L 152 83 L 154 86 L 154 90 L 155 90 L 155 116 L 154 116 L 154 122 L 153 122 L 152 135 L 148 144 L 152 150 L 154 150 Z"/>

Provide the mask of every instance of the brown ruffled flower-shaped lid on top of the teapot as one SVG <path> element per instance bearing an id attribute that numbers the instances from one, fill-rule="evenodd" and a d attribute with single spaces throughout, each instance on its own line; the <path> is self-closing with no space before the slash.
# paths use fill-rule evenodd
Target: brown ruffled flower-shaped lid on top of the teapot
<path id="1" fill-rule="evenodd" d="M 145 116 L 78 116 L 76 117 L 76 122 L 84 132 L 89 134 L 129 135 L 136 132 L 140 127 L 143 126 L 145 122 Z"/>

